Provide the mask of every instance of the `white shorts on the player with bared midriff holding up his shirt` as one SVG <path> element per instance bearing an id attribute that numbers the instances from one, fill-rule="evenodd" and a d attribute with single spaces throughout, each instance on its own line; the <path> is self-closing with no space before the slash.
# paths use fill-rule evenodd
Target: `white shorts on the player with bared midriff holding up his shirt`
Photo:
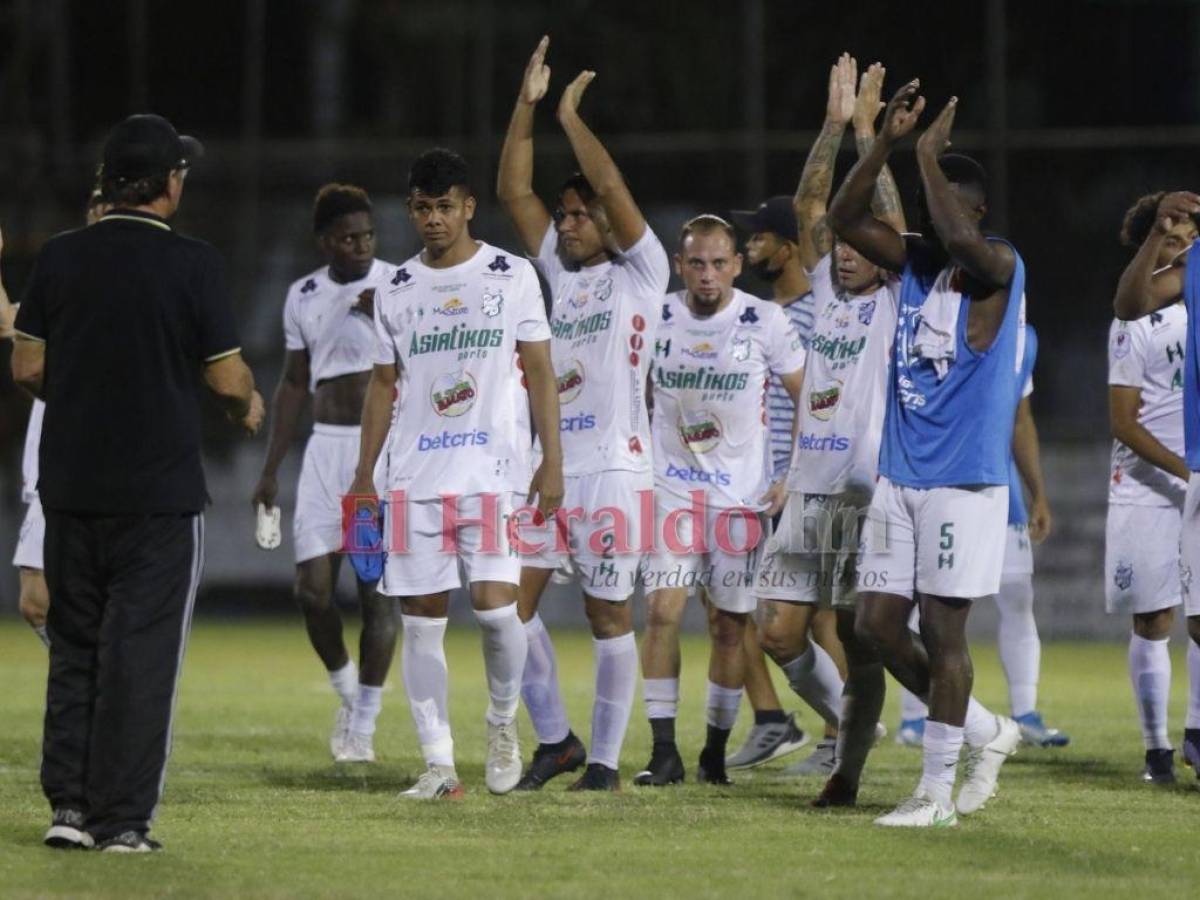
<path id="1" fill-rule="evenodd" d="M 342 497 L 354 484 L 360 431 L 356 425 L 312 426 L 292 520 L 296 563 L 342 548 Z"/>

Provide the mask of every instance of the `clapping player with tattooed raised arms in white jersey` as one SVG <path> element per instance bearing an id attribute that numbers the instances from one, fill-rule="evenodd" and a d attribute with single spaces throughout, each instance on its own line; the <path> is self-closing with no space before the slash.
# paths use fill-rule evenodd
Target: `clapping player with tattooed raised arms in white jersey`
<path id="1" fill-rule="evenodd" d="M 872 65 L 854 94 L 857 66 L 844 54 L 829 73 L 824 124 L 796 191 L 799 258 L 816 298 L 816 325 L 797 410 L 799 439 L 787 474 L 788 504 L 758 570 L 760 640 L 788 684 L 826 720 L 826 739 L 794 774 L 829 775 L 841 718 L 842 679 L 809 640 L 821 606 L 852 629 L 858 517 L 875 486 L 883 426 L 888 348 L 895 332 L 894 278 L 845 241 L 834 246 L 826 223 L 834 163 L 854 120 L 859 152 L 875 139 L 884 68 Z M 876 214 L 904 230 L 895 181 L 884 169 Z M 829 530 L 822 532 L 822 528 Z M 874 733 L 874 722 L 869 724 Z M 793 773 L 793 768 L 787 769 Z M 857 773 L 854 775 L 857 784 Z"/>

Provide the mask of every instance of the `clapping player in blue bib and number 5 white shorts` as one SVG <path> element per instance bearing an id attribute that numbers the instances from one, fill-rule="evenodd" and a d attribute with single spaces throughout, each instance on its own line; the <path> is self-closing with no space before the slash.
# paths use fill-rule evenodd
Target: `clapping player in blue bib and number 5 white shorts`
<path id="1" fill-rule="evenodd" d="M 1025 268 L 1010 244 L 979 230 L 983 167 L 943 156 L 954 97 L 917 142 L 922 233 L 906 239 L 871 214 L 878 174 L 925 106 L 918 89 L 913 80 L 888 103 L 878 138 L 834 197 L 829 221 L 872 263 L 904 272 L 854 630 L 930 707 L 924 775 L 913 796 L 876 823 L 930 827 L 956 824 L 956 814 L 983 806 L 1020 742 L 1015 722 L 971 698 L 966 619 L 972 600 L 1000 589 Z M 923 642 L 907 629 L 914 604 Z M 964 743 L 965 780 L 952 802 Z"/>

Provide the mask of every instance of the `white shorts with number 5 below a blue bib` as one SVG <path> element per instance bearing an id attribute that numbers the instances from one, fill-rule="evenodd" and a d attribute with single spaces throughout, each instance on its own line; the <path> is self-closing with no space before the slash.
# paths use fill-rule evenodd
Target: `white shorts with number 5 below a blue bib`
<path id="1" fill-rule="evenodd" d="M 974 600 L 1000 593 L 1008 485 L 905 487 L 880 476 L 858 589 Z"/>

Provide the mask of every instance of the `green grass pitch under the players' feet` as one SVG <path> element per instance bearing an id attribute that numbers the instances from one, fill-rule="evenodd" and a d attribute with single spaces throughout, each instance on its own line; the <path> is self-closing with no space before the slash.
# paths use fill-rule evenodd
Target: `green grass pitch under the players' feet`
<path id="1" fill-rule="evenodd" d="M 568 708 L 587 739 L 590 643 L 557 635 Z M 299 619 L 199 622 L 185 668 L 175 750 L 146 857 L 42 847 L 37 785 L 46 658 L 18 622 L 0 622 L 0 895 L 8 896 L 1194 896 L 1200 791 L 1138 780 L 1141 740 L 1115 644 L 1048 644 L 1043 708 L 1074 742 L 1022 750 L 1001 794 L 958 829 L 894 832 L 871 818 L 902 799 L 919 754 L 890 739 L 872 754 L 857 810 L 816 811 L 816 781 L 779 768 L 732 788 L 634 788 L 646 761 L 641 700 L 617 796 L 492 797 L 482 785 L 486 691 L 479 636 L 451 631 L 451 715 L 462 803 L 396 800 L 421 770 L 397 683 L 376 736 L 380 761 L 335 766 L 332 695 Z M 1176 646 L 1171 724 L 1183 726 Z M 684 648 L 680 745 L 689 775 L 703 736 L 703 661 Z M 398 670 L 398 659 L 397 666 Z M 991 647 L 976 652 L 977 694 L 1004 706 Z M 784 694 L 784 696 L 788 696 Z M 796 703 L 786 701 L 788 706 Z M 895 696 L 888 724 L 896 720 Z M 811 727 L 814 716 L 802 716 Z M 734 743 L 748 726 L 743 710 Z M 522 713 L 526 757 L 532 730 Z M 804 752 L 804 751 L 802 751 Z M 563 781 L 563 779 L 560 779 Z"/>

